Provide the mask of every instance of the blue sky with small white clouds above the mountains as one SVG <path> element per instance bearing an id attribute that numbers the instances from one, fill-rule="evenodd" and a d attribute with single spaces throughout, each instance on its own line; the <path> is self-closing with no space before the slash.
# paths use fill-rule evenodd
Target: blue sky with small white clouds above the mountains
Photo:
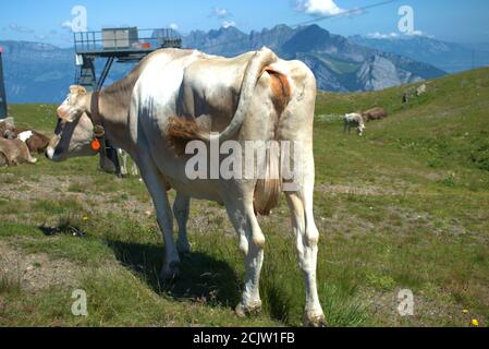
<path id="1" fill-rule="evenodd" d="M 318 15 L 363 8 L 382 0 L 13 0 L 0 4 L 0 40 L 34 40 L 70 46 L 62 24 L 72 20 L 72 8 L 87 9 L 89 29 L 136 25 L 156 28 L 174 25 L 182 33 L 235 25 L 243 32 L 277 24 L 295 25 Z M 341 35 L 398 35 L 398 10 L 411 5 L 415 31 L 439 39 L 461 43 L 489 41 L 487 0 L 401 0 L 318 22 Z M 394 34 L 392 34 L 394 33 Z"/>

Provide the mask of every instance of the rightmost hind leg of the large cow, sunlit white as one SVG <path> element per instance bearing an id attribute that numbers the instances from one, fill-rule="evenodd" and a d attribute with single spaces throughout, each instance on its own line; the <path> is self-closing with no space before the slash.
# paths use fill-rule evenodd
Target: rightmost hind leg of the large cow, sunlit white
<path id="1" fill-rule="evenodd" d="M 292 213 L 292 227 L 296 237 L 298 264 L 304 273 L 306 306 L 304 321 L 308 326 L 325 326 L 326 320 L 317 290 L 317 255 L 319 231 L 313 214 L 314 160 L 306 160 L 305 172 L 299 180 L 299 190 L 285 192 Z"/>

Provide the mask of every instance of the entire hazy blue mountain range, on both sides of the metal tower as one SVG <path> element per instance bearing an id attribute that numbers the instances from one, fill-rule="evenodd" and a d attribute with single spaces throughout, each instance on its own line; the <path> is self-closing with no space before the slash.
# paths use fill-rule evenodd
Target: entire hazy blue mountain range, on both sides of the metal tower
<path id="1" fill-rule="evenodd" d="M 156 33 L 157 34 L 157 33 Z M 267 46 L 284 59 L 299 59 L 316 74 L 320 89 L 377 91 L 442 76 L 445 72 L 395 52 L 358 45 L 318 25 L 245 34 L 235 27 L 195 31 L 182 36 L 183 46 L 227 57 Z M 75 76 L 73 49 L 38 43 L 0 41 L 10 103 L 60 103 Z M 130 64 L 114 64 L 108 83 Z"/>

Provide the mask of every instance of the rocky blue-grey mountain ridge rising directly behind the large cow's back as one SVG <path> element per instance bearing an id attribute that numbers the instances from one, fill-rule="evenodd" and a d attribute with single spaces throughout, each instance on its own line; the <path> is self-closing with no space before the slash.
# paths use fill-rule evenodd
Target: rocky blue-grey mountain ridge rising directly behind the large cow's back
<path id="1" fill-rule="evenodd" d="M 232 57 L 267 46 L 284 59 L 299 59 L 315 73 L 320 89 L 376 91 L 439 77 L 442 70 L 392 52 L 367 48 L 318 25 L 278 25 L 249 35 L 235 27 L 192 32 L 185 47 Z"/>

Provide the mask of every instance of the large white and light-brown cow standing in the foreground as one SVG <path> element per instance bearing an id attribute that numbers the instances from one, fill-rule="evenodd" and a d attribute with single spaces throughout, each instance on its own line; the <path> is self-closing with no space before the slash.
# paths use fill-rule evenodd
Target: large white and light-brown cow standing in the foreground
<path id="1" fill-rule="evenodd" d="M 166 278 L 180 273 L 178 252 L 190 251 L 190 198 L 222 203 L 245 256 L 245 286 L 236 308 L 240 316 L 261 308 L 259 277 L 266 239 L 256 213 L 269 213 L 283 189 L 305 278 L 305 323 L 322 326 L 316 280 L 319 232 L 313 214 L 316 88 L 314 74 L 304 63 L 281 60 L 267 48 L 232 59 L 197 50 L 161 49 L 99 94 L 72 86 L 58 109 L 56 135 L 46 155 L 53 161 L 94 156 L 103 137 L 131 155 L 152 197 L 163 233 Z M 288 190 L 291 181 L 285 176 L 283 180 L 271 177 L 280 163 L 272 152 L 256 164 L 267 168 L 265 178 L 258 178 L 253 166 L 250 177 L 213 177 L 220 164 L 212 163 L 212 155 L 211 167 L 205 168 L 211 179 L 191 178 L 186 171 L 193 156 L 184 154 L 185 147 L 204 146 L 212 152 L 216 143 L 223 147 L 239 144 L 243 145 L 240 154 L 245 156 L 245 142 L 272 140 L 295 144 L 289 154 L 294 153 L 292 166 L 301 173 L 296 185 Z M 222 155 L 217 157 L 222 160 Z M 176 191 L 173 210 L 167 194 L 170 188 Z M 173 216 L 179 226 L 176 244 Z"/>

